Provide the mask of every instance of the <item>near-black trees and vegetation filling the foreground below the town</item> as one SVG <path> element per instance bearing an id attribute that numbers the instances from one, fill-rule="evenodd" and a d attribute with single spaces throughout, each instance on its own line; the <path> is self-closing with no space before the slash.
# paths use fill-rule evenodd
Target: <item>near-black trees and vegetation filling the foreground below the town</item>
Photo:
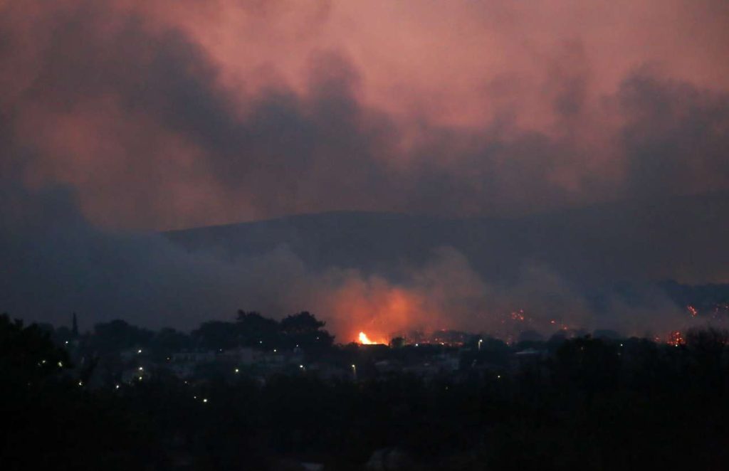
<path id="1" fill-rule="evenodd" d="M 213 368 L 194 381 L 160 372 L 91 388 L 90 365 L 104 354 L 71 365 L 66 341 L 1 316 L 1 467 L 727 469 L 728 340 L 712 329 L 678 346 L 583 336 L 542 343 L 523 361 L 515 350 L 525 346 L 490 339 L 461 347 L 457 370 L 433 375 L 372 365 L 445 347 L 327 340 L 313 355 L 356 362 L 359 376 Z"/>

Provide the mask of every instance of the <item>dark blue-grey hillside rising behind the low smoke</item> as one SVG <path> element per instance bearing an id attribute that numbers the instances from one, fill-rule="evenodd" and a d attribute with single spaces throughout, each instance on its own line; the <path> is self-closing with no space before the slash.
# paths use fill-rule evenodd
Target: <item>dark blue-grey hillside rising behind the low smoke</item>
<path id="1" fill-rule="evenodd" d="M 418 266 L 433 249 L 452 246 L 489 280 L 508 281 L 529 263 L 576 281 L 703 283 L 728 275 L 728 216 L 729 194 L 715 193 L 512 219 L 304 214 L 165 236 L 190 251 L 233 258 L 287 246 L 311 268 L 339 266 L 366 273 Z"/>

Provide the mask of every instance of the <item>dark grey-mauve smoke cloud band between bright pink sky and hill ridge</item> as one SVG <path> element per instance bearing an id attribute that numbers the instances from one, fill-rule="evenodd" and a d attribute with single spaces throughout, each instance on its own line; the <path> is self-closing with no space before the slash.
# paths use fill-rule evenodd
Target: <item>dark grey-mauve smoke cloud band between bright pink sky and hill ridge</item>
<path id="1" fill-rule="evenodd" d="M 20 91 L 4 114 L 35 152 L 24 178 L 71 185 L 109 227 L 332 209 L 512 215 L 729 187 L 725 93 L 641 69 L 591 106 L 580 40 L 558 48 L 539 85 L 551 128 L 523 128 L 529 106 L 497 101 L 483 102 L 504 110 L 484 125 L 423 117 L 413 128 L 362 103 L 364 79 L 343 52 L 313 53 L 303 92 L 275 80 L 233 88 L 181 28 L 113 2 L 70 3 L 10 9 L 2 75 Z M 26 44 L 17 20 L 43 34 Z"/>

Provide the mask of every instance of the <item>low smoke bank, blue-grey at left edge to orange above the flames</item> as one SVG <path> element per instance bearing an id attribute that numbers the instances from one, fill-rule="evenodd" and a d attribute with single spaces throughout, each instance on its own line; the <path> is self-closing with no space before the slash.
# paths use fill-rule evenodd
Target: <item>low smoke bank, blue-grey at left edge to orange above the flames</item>
<path id="1" fill-rule="evenodd" d="M 282 317 L 307 309 L 346 342 L 412 330 L 486 332 L 515 338 L 560 327 L 667 332 L 687 315 L 657 290 L 631 303 L 609 297 L 596 309 L 557 273 L 524 265 L 508 282 L 487 282 L 456 249 L 434 250 L 418 267 L 389 275 L 313 269 L 284 246 L 230 258 L 190 252 L 155 234 L 109 233 L 89 225 L 61 190 L 4 189 L 0 209 L 1 308 L 24 319 L 65 324 L 127 319 L 147 327 L 195 327 L 232 319 L 238 308 Z M 393 275 L 394 273 L 394 275 Z M 521 314 L 523 319 L 512 316 Z"/>

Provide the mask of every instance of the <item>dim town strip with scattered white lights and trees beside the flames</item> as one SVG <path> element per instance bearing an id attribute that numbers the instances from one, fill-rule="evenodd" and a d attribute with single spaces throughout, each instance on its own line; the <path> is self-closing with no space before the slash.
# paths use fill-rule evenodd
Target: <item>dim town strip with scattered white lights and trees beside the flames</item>
<path id="1" fill-rule="evenodd" d="M 518 314 L 518 313 L 517 313 Z M 515 319 L 522 319 L 518 314 Z M 564 340 L 596 338 L 630 354 L 644 340 L 620 338 L 617 332 L 557 330 L 545 340 L 537 332 L 521 332 L 516 340 L 489 335 L 437 330 L 410 332 L 376 343 L 360 333 L 357 341 L 335 343 L 324 322 L 303 311 L 277 322 L 257 312 L 238 311 L 235 322 L 211 321 L 190 334 L 164 328 L 157 332 L 122 320 L 96 324 L 80 333 L 77 315 L 71 326 L 42 328 L 69 354 L 68 375 L 90 388 L 120 389 L 151 378 L 184 384 L 236 381 L 242 376 L 265 384 L 276 375 L 315 376 L 325 381 L 367 381 L 388 375 L 413 375 L 427 381 L 450 378 L 502 378 L 553 357 Z M 653 339 L 662 343 L 660 338 Z M 667 346 L 685 343 L 671 332 Z"/>

